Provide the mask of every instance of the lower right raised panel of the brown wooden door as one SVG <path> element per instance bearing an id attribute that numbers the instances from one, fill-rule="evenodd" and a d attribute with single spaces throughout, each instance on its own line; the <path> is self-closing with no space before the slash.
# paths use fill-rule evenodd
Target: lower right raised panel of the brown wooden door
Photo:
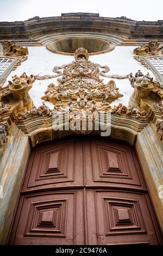
<path id="1" fill-rule="evenodd" d="M 96 190 L 94 196 L 99 245 L 159 245 L 155 232 L 158 225 L 154 221 L 152 206 L 147 203 L 147 195 Z"/>

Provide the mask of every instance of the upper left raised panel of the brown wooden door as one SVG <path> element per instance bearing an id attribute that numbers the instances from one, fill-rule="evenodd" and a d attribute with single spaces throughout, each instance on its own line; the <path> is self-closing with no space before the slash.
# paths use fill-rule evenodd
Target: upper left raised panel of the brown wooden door
<path id="1" fill-rule="evenodd" d="M 82 143 L 76 141 L 37 148 L 30 157 L 23 191 L 83 185 L 82 153 Z"/>

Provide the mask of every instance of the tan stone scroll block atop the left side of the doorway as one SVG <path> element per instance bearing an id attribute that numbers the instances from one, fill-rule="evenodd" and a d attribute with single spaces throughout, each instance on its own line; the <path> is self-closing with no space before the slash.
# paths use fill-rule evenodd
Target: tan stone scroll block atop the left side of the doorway
<path id="1" fill-rule="evenodd" d="M 21 102 L 20 110 L 29 110 L 33 106 L 33 101 L 28 93 L 29 89 L 28 83 L 22 82 L 18 77 L 9 86 L 9 91 L 12 93 L 14 100 Z"/>

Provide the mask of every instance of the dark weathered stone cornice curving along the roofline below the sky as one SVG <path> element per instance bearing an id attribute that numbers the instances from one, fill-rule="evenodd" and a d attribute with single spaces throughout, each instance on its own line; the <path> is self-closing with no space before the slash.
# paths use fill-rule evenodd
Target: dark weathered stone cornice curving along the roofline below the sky
<path id="1" fill-rule="evenodd" d="M 126 17 L 98 17 L 93 14 L 62 14 L 34 17 L 27 21 L 0 22 L 0 40 L 32 40 L 43 35 L 92 32 L 123 36 L 126 39 L 163 39 L 163 21 L 133 21 Z"/>

